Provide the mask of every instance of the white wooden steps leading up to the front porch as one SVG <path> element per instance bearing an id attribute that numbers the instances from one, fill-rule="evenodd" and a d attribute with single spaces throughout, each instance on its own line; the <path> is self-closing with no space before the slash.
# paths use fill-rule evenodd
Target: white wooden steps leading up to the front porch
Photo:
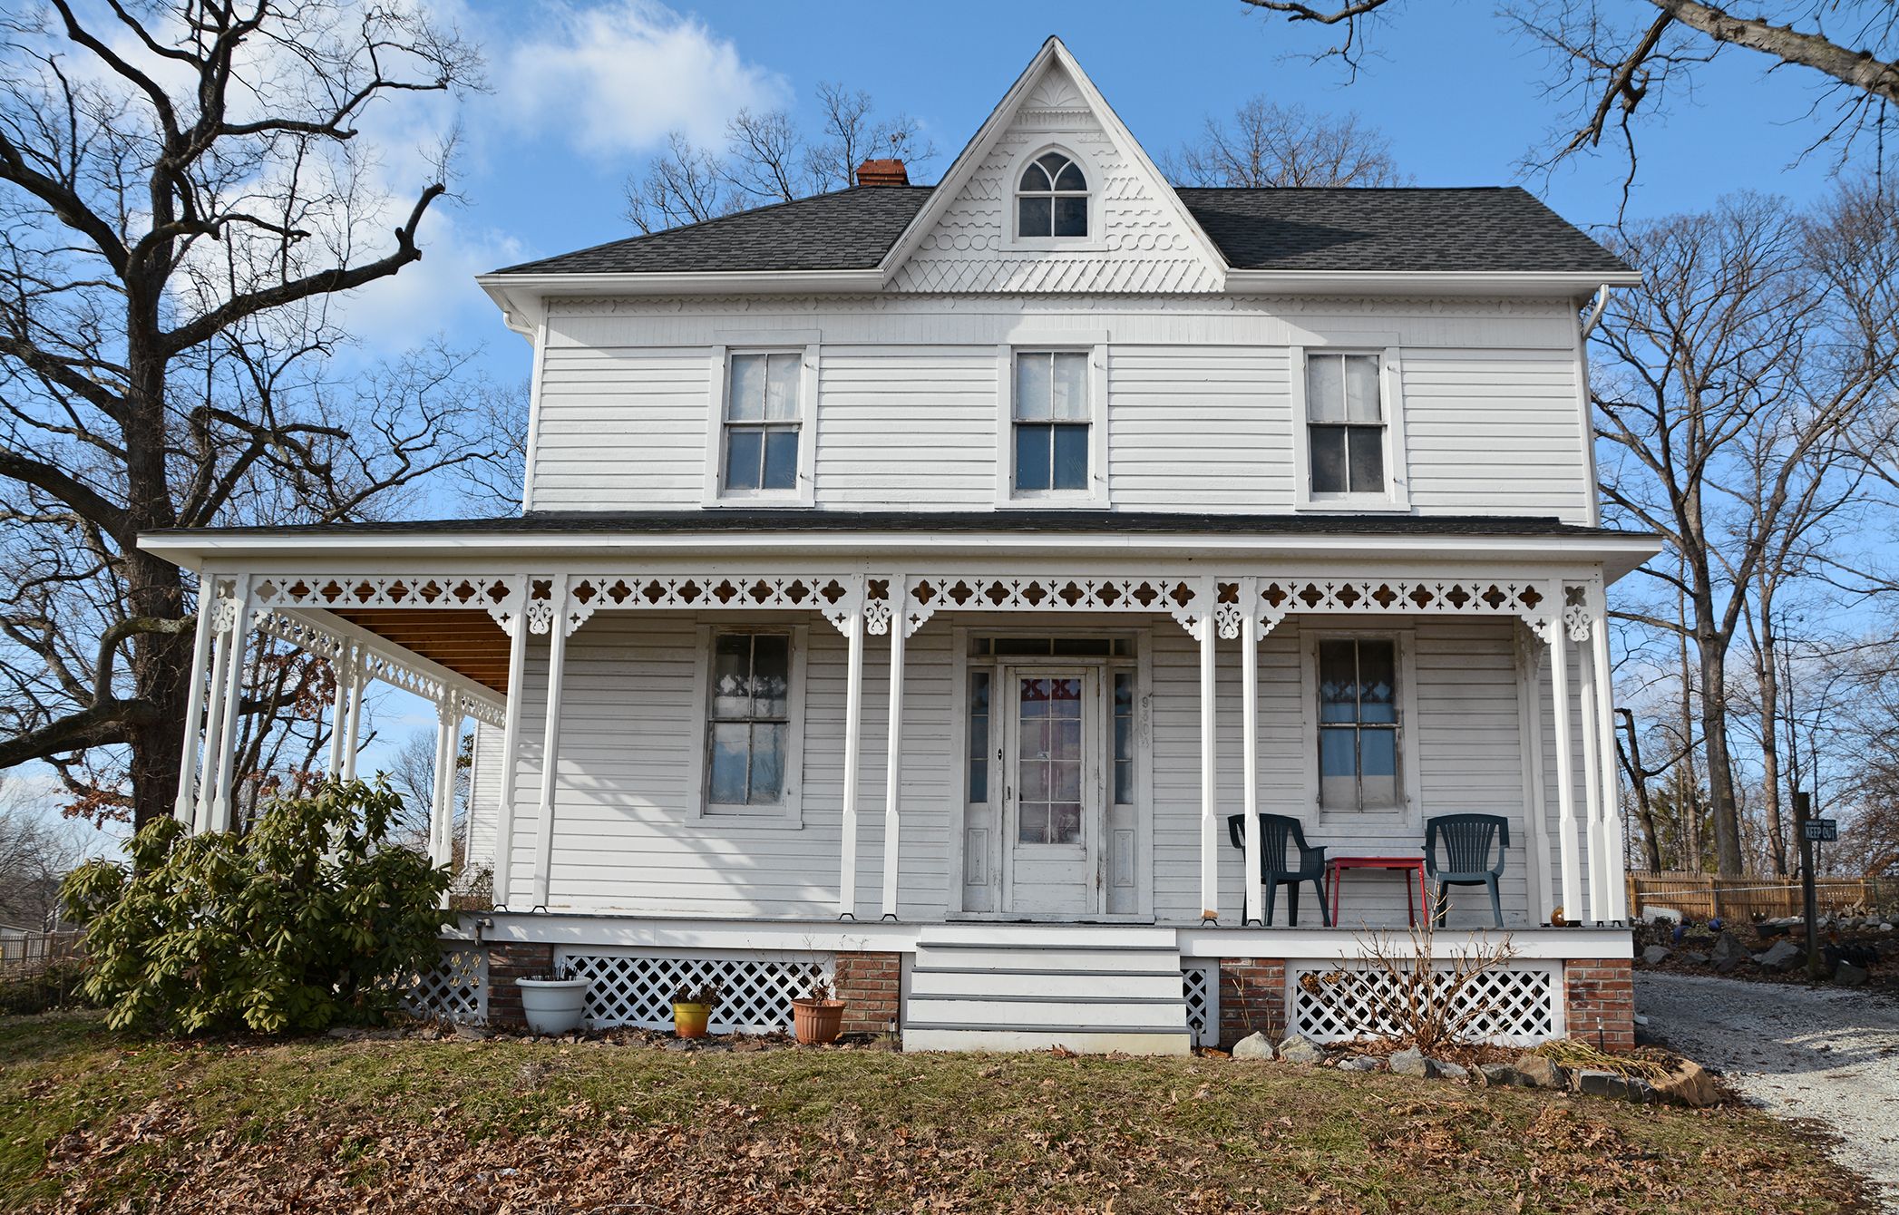
<path id="1" fill-rule="evenodd" d="M 904 997 L 904 1050 L 1189 1054 L 1172 928 L 923 928 Z"/>

